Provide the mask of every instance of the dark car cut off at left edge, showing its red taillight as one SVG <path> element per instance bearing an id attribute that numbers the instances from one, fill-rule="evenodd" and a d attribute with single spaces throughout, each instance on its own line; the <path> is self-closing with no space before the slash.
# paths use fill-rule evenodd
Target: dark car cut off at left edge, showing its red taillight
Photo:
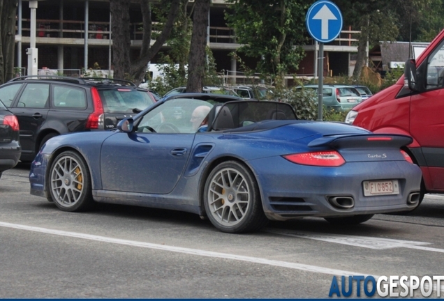
<path id="1" fill-rule="evenodd" d="M 3 171 L 12 169 L 20 159 L 19 123 L 0 98 L 0 178 Z"/>

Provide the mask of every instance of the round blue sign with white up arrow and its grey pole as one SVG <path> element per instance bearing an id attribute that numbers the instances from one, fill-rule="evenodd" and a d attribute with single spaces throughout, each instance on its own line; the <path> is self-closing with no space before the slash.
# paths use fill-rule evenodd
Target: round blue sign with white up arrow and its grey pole
<path id="1" fill-rule="evenodd" d="M 341 10 L 331 1 L 313 3 L 306 13 L 306 29 L 319 42 L 318 56 L 318 121 L 323 120 L 324 43 L 332 42 L 342 29 Z M 316 49 L 315 49 L 316 51 Z"/>

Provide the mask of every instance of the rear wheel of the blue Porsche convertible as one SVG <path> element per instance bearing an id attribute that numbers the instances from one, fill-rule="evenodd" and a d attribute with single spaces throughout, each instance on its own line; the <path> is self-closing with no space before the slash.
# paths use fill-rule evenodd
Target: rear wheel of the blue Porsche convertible
<path id="1" fill-rule="evenodd" d="M 223 162 L 209 173 L 204 204 L 212 224 L 226 233 L 258 231 L 268 221 L 256 179 L 235 161 Z"/>

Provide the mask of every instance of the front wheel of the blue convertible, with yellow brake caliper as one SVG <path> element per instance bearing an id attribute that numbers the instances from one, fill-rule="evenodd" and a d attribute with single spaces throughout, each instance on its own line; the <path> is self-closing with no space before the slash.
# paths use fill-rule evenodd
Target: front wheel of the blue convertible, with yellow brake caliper
<path id="1" fill-rule="evenodd" d="M 82 211 L 94 204 L 87 164 L 73 151 L 65 151 L 56 157 L 46 182 L 50 199 L 60 210 Z"/>

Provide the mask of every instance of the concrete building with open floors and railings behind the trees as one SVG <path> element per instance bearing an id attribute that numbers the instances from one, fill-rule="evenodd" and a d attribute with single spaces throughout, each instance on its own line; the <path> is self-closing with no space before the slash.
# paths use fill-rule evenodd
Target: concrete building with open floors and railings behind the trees
<path id="1" fill-rule="evenodd" d="M 31 43 L 31 2 L 38 3 L 35 43 L 38 48 L 39 71 L 47 68 L 64 75 L 76 76 L 80 75 L 83 69 L 112 69 L 112 20 L 108 0 L 19 0 L 15 65 L 22 68 L 22 74 L 26 74 L 27 49 Z M 245 77 L 230 53 L 235 52 L 241 45 L 236 43 L 235 33 L 228 28 L 224 19 L 224 11 L 229 9 L 229 6 L 224 0 L 212 1 L 208 43 L 216 61 L 217 71 L 229 82 L 240 84 Z M 130 16 L 130 51 L 137 56 L 142 42 L 142 15 L 137 3 L 131 4 Z M 350 66 L 353 66 L 353 62 L 350 62 L 350 53 L 357 52 L 356 40 L 353 38 L 355 33 L 357 32 L 350 29 L 344 30 L 336 40 L 324 46 L 325 76 L 351 74 Z M 317 49 L 318 45 L 313 41 L 304 45 L 306 57 L 295 75 L 317 76 Z M 240 56 L 242 57 L 242 54 Z M 256 65 L 255 59 L 242 57 L 242 60 L 251 68 Z M 156 63 L 156 58 L 151 63 Z"/>

